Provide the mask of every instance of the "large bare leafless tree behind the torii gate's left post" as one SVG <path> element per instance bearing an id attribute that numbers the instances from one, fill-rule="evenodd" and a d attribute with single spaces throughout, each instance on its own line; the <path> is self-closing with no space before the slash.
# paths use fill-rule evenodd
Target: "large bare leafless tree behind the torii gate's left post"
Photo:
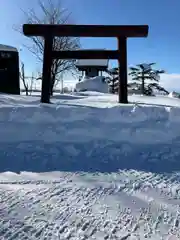
<path id="1" fill-rule="evenodd" d="M 24 12 L 26 15 L 26 23 L 28 24 L 67 24 L 69 23 L 70 13 L 67 9 L 62 8 L 61 0 L 48 0 L 44 4 L 43 0 L 38 0 L 38 13 L 35 9 Z M 40 12 L 39 12 L 40 10 Z M 43 61 L 44 40 L 41 37 L 31 37 L 30 46 L 26 46 L 36 58 Z M 53 50 L 76 50 L 80 47 L 79 38 L 75 37 L 55 37 L 53 40 Z M 53 94 L 53 88 L 56 82 L 60 81 L 60 75 L 63 73 L 71 74 L 77 71 L 75 67 L 75 59 L 61 60 L 54 59 L 51 68 L 51 86 L 50 93 Z"/>

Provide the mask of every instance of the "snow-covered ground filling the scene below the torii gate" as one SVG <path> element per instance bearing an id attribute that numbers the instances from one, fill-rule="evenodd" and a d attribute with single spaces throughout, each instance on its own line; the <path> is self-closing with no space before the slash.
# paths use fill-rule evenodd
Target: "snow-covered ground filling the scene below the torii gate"
<path id="1" fill-rule="evenodd" d="M 0 95 L 0 239 L 180 239 L 180 100 Z"/>

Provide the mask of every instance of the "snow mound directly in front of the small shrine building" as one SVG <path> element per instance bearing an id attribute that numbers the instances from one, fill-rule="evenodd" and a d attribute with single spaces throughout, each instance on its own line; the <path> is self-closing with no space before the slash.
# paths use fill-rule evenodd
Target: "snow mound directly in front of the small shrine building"
<path id="1" fill-rule="evenodd" d="M 108 83 L 104 82 L 104 77 L 84 78 L 76 84 L 76 91 L 97 91 L 108 93 Z"/>

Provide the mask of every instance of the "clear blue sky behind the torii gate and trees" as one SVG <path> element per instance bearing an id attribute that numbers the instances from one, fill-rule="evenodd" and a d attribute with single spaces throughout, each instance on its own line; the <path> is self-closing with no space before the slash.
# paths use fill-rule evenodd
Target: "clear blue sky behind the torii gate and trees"
<path id="1" fill-rule="evenodd" d="M 44 0 L 46 1 L 46 0 Z M 22 13 L 30 8 L 38 10 L 38 0 L 1 0 L 1 42 L 16 46 L 26 69 L 36 71 L 39 66 L 23 44 L 26 37 L 14 31 L 15 26 L 25 22 Z M 157 62 L 165 69 L 165 86 L 180 89 L 180 1 L 179 0 L 64 0 L 71 21 L 77 24 L 148 24 L 148 38 L 128 40 L 128 64 Z M 116 49 L 115 39 L 82 39 L 84 48 Z"/>

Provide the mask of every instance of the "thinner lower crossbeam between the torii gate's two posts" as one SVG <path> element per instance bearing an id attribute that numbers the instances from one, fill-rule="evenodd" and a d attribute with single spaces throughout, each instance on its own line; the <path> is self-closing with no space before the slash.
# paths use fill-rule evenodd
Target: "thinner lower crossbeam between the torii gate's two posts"
<path id="1" fill-rule="evenodd" d="M 55 59 L 118 59 L 117 50 L 77 50 L 77 51 L 53 51 Z"/>

